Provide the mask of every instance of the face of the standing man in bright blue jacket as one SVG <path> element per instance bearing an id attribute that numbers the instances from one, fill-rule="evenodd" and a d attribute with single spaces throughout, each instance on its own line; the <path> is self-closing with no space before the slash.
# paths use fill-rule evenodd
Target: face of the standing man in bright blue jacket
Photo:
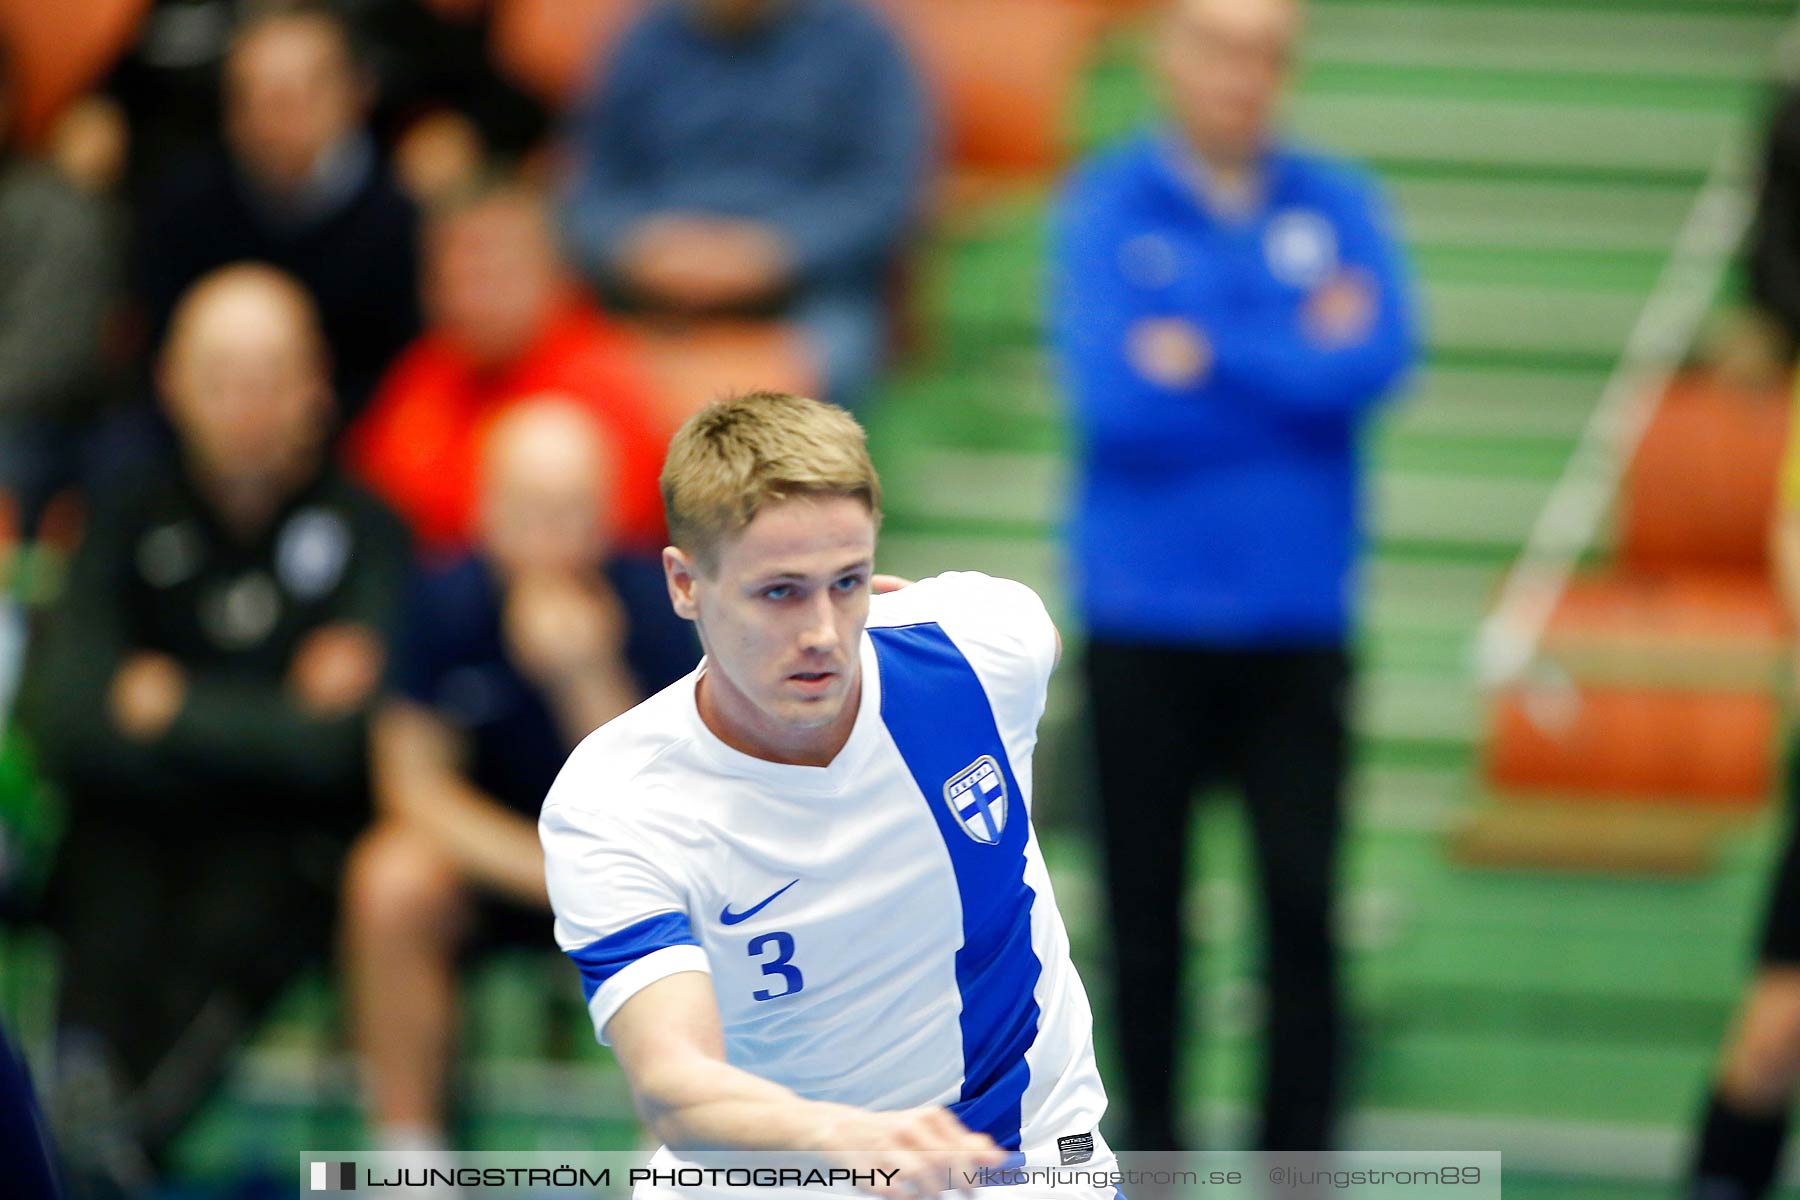
<path id="1" fill-rule="evenodd" d="M 1294 0 L 1175 0 L 1157 47 L 1175 122 L 1208 153 L 1255 157 L 1298 38 Z"/>

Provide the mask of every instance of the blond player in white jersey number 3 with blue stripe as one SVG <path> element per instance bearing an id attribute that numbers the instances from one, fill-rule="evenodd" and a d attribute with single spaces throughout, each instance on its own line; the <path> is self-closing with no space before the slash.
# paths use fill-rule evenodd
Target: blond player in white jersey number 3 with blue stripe
<path id="1" fill-rule="evenodd" d="M 556 939 L 664 1153 L 824 1151 L 931 1191 L 1015 1150 L 1109 1168 L 1030 824 L 1044 604 L 981 574 L 871 597 L 880 482 L 812 399 L 706 408 L 662 497 L 706 658 L 576 748 L 540 831 Z"/>

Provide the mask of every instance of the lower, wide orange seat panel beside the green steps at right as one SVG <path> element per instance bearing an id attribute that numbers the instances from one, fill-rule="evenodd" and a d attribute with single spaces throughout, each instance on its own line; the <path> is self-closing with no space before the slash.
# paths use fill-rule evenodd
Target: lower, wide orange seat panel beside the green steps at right
<path id="1" fill-rule="evenodd" d="M 1760 804 L 1773 781 L 1775 696 L 1580 685 L 1494 698 L 1487 781 L 1499 790 Z"/>

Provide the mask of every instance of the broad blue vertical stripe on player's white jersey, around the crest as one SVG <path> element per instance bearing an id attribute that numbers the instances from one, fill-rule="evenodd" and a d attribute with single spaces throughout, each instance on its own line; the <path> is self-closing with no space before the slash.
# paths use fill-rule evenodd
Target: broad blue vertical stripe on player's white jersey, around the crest
<path id="1" fill-rule="evenodd" d="M 963 1000 L 963 1092 L 950 1105 L 963 1124 L 1006 1150 L 1019 1148 L 1026 1051 L 1037 1040 L 1031 903 L 1024 882 L 1030 822 L 994 709 L 972 666 L 938 624 L 869 630 L 882 673 L 882 723 L 938 822 L 963 903 L 956 990 Z M 999 842 L 963 831 L 943 788 L 983 754 L 1006 779 Z"/>

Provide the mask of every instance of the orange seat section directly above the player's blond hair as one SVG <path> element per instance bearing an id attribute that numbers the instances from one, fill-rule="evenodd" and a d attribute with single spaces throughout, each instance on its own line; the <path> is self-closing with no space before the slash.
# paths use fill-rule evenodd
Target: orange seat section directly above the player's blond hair
<path id="1" fill-rule="evenodd" d="M 707 320 L 637 322 L 630 329 L 670 430 L 709 401 L 734 392 L 817 394 L 817 363 L 794 326 Z"/>

